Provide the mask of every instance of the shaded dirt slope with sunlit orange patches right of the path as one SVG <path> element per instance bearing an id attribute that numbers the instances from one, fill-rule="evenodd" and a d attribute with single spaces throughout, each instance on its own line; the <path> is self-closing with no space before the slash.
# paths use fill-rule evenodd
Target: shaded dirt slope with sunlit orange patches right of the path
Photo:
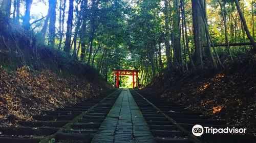
<path id="1" fill-rule="evenodd" d="M 224 71 L 162 73 L 142 91 L 256 133 L 256 55 L 238 61 Z"/>

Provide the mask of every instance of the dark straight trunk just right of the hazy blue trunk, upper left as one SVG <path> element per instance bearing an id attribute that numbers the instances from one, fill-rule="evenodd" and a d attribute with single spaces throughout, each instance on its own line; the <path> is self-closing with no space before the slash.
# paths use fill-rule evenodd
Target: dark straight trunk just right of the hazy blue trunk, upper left
<path id="1" fill-rule="evenodd" d="M 64 51 L 70 54 L 71 51 L 71 35 L 72 35 L 72 21 L 73 21 L 73 11 L 74 11 L 74 0 L 69 0 L 69 15 L 67 20 L 67 32 Z"/>

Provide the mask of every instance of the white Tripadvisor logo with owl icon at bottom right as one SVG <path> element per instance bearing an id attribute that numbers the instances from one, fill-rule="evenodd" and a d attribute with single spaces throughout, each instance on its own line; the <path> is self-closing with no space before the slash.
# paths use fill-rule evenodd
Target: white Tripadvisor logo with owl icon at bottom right
<path id="1" fill-rule="evenodd" d="M 195 125 L 192 128 L 192 133 L 195 136 L 201 136 L 203 133 L 208 134 L 215 134 L 215 133 L 230 133 L 230 134 L 237 134 L 237 133 L 245 133 L 246 128 L 212 128 L 212 127 L 203 127 L 201 125 Z"/>

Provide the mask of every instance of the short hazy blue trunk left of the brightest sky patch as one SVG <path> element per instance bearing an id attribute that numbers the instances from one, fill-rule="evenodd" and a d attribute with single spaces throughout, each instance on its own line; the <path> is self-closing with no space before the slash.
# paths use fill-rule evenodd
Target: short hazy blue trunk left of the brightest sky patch
<path id="1" fill-rule="evenodd" d="M 33 0 L 26 0 L 26 11 L 25 11 L 25 15 L 23 18 L 23 27 L 26 30 L 30 29 L 30 9 L 31 9 L 31 5 L 33 3 Z"/>

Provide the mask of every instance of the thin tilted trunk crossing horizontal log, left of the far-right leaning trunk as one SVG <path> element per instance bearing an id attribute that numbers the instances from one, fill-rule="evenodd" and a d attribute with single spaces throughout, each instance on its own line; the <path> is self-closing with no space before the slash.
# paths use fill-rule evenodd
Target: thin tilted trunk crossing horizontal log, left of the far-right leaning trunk
<path id="1" fill-rule="evenodd" d="M 226 20 L 226 16 L 225 16 L 225 7 L 223 9 L 223 6 L 220 2 L 220 0 L 217 0 L 219 5 L 220 5 L 220 8 L 221 8 L 221 14 L 222 14 L 222 18 L 223 18 L 223 22 L 224 22 L 224 32 L 225 32 L 225 43 L 227 44 L 227 52 L 230 56 L 230 59 L 233 61 L 233 57 L 232 57 L 232 54 L 231 54 L 231 51 L 230 51 L 230 46 L 229 46 L 229 42 L 228 42 L 228 34 L 227 34 L 227 20 Z"/>

